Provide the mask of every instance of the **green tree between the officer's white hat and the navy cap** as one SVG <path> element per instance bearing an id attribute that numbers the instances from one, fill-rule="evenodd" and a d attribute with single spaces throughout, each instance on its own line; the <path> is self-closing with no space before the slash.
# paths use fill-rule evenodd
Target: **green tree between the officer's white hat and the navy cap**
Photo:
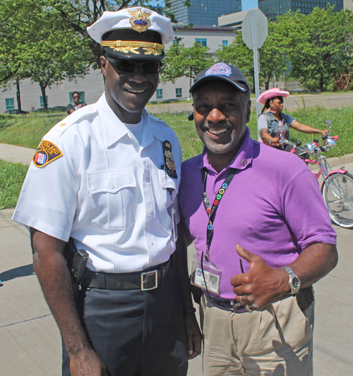
<path id="1" fill-rule="evenodd" d="M 192 47 L 186 48 L 180 38 L 166 51 L 161 73 L 162 83 L 175 83 L 177 78 L 189 77 L 191 87 L 193 78 L 214 62 L 208 51 L 208 47 L 196 42 Z"/>

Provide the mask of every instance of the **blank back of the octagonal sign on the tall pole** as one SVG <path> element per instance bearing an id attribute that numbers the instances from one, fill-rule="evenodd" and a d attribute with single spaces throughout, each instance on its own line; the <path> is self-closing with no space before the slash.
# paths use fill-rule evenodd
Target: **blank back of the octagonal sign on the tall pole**
<path id="1" fill-rule="evenodd" d="M 262 47 L 263 42 L 265 42 L 268 36 L 268 20 L 267 17 L 260 11 L 260 9 L 255 8 L 246 13 L 243 23 L 241 24 L 241 31 L 244 43 L 249 49 L 253 49 L 253 25 L 255 23 L 255 40 L 256 49 Z"/>

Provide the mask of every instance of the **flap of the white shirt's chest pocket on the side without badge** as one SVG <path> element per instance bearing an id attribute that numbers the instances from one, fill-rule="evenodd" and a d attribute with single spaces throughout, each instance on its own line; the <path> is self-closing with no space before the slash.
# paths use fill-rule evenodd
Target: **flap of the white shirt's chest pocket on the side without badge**
<path id="1" fill-rule="evenodd" d="M 126 187 L 136 187 L 133 169 L 96 171 L 87 174 L 90 195 L 100 192 L 116 193 Z"/>

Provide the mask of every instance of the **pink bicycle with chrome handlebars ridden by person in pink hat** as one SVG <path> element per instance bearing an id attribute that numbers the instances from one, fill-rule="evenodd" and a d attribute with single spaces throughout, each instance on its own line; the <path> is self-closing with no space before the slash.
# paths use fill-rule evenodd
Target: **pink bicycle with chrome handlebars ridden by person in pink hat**
<path id="1" fill-rule="evenodd" d="M 282 138 L 282 132 L 280 133 L 281 145 L 292 145 L 292 152 L 300 149 L 299 157 L 304 160 L 306 164 L 316 164 L 319 167 L 317 173 L 313 172 L 316 178 L 323 176 L 323 183 L 321 184 L 321 193 L 323 200 L 328 207 L 331 220 L 338 226 L 345 227 L 346 229 L 353 228 L 353 176 L 342 166 L 340 169 L 331 169 L 330 164 L 325 155 L 322 152 L 327 153 L 331 147 L 335 147 L 338 140 L 338 136 L 331 137 L 332 120 L 325 122 L 326 128 L 328 127 L 328 135 L 323 136 L 323 145 L 319 144 L 319 141 L 314 138 L 313 142 L 308 142 L 304 148 L 301 148 L 301 142 L 297 142 L 294 145 L 289 140 Z M 300 147 L 300 148 L 299 148 Z M 308 154 L 313 155 L 316 159 L 308 158 Z"/>

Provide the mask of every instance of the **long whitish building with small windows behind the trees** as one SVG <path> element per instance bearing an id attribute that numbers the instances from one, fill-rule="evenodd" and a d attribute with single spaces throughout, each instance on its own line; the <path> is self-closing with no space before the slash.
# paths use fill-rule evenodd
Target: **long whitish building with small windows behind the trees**
<path id="1" fill-rule="evenodd" d="M 235 28 L 210 28 L 193 27 L 185 29 L 184 25 L 173 25 L 176 37 L 183 38 L 185 47 L 191 47 L 198 42 L 210 47 L 210 54 L 219 49 L 222 45 L 227 46 L 232 43 Z M 167 49 L 171 44 L 167 45 Z M 189 97 L 189 78 L 179 78 L 175 84 L 160 84 L 151 98 L 152 101 L 162 101 L 165 99 L 176 99 Z M 53 85 L 47 88 L 46 95 L 49 107 L 66 106 L 72 99 L 74 91 L 80 92 L 80 99 L 87 104 L 97 102 L 102 92 L 104 92 L 104 80 L 100 70 L 91 70 L 85 78 L 77 78 L 75 81 L 63 81 L 60 85 Z M 42 92 L 37 83 L 31 83 L 30 79 L 20 81 L 21 108 L 24 111 L 33 111 L 43 107 Z M 16 83 L 11 85 L 9 90 L 0 92 L 0 112 L 6 109 L 17 109 Z"/>

